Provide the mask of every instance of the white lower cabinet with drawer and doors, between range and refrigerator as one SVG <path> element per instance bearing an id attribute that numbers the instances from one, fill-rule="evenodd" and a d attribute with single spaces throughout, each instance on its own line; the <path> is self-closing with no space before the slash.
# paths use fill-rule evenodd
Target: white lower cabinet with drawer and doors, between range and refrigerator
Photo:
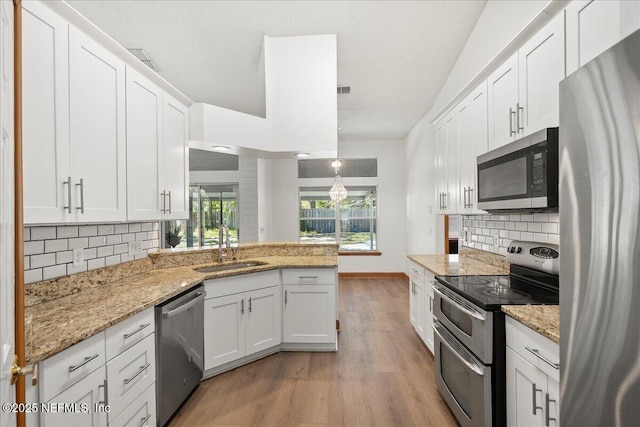
<path id="1" fill-rule="evenodd" d="M 507 317 L 507 425 L 558 426 L 558 344 Z"/>

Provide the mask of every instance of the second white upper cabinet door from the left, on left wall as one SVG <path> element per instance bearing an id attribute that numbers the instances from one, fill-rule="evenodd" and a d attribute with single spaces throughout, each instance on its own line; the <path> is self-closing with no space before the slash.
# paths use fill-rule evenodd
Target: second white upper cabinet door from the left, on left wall
<path id="1" fill-rule="evenodd" d="M 125 66 L 69 28 L 70 165 L 76 220 L 125 221 Z"/>

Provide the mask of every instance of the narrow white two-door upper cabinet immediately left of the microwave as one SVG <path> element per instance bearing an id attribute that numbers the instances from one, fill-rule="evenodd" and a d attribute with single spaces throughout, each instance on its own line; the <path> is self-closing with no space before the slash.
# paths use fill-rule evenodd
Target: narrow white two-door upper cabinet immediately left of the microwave
<path id="1" fill-rule="evenodd" d="M 487 82 L 458 105 L 458 213 L 483 213 L 477 208 L 476 158 L 487 151 Z"/>

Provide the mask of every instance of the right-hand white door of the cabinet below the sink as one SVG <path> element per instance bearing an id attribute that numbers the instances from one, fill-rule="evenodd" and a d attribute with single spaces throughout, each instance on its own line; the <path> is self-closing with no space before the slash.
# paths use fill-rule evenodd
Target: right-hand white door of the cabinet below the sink
<path id="1" fill-rule="evenodd" d="M 282 306 L 280 286 L 247 292 L 247 355 L 280 345 Z"/>

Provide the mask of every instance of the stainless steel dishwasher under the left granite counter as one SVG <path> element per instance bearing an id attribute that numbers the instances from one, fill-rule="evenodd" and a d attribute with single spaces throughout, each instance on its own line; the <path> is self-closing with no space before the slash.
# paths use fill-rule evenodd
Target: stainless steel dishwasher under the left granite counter
<path id="1" fill-rule="evenodd" d="M 204 286 L 155 309 L 156 412 L 164 426 L 202 379 L 204 368 Z"/>

